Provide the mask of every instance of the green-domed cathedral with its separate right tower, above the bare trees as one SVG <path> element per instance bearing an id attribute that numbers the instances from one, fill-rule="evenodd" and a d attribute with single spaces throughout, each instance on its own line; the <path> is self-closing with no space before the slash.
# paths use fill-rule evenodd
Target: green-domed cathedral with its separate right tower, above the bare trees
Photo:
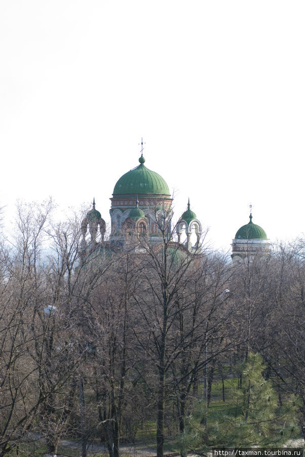
<path id="1" fill-rule="evenodd" d="M 143 145 L 143 143 L 142 143 Z M 163 241 L 161 228 L 166 224 L 167 235 L 172 235 L 172 197 L 166 181 L 158 173 L 149 170 L 145 165 L 143 147 L 139 158 L 139 165 L 125 173 L 117 181 L 110 208 L 111 232 L 109 238 L 104 240 L 106 223 L 99 211 L 95 208 L 93 200 L 92 210 L 88 211 L 82 221 L 82 252 L 86 256 L 96 249 L 101 243 L 108 247 L 123 246 L 126 235 L 143 237 L 151 245 Z M 87 241 L 87 233 L 90 240 Z M 175 244 L 181 250 L 192 252 L 200 246 L 202 226 L 193 210 L 190 209 L 188 200 L 187 209 L 180 216 L 175 226 Z M 232 258 L 241 258 L 260 254 L 267 254 L 270 245 L 264 230 L 250 221 L 243 225 L 232 241 Z"/>

